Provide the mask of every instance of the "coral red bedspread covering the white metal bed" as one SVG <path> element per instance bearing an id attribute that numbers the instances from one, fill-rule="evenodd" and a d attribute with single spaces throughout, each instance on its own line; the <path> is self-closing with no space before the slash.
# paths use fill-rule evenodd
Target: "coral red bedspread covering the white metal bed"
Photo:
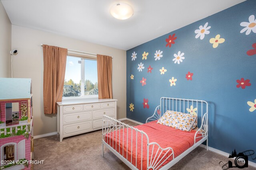
<path id="1" fill-rule="evenodd" d="M 192 130 L 190 132 L 185 132 L 179 129 L 174 129 L 172 127 L 168 127 L 165 125 L 160 125 L 157 123 L 157 121 L 152 121 L 150 123 L 146 123 L 143 125 L 135 126 L 134 128 L 138 128 L 138 130 L 144 131 L 149 138 L 149 143 L 156 142 L 160 145 L 160 147 L 167 148 L 171 147 L 174 150 L 174 158 L 182 154 L 185 150 L 190 148 L 192 145 L 194 145 L 194 135 L 196 133 L 195 130 Z M 128 142 L 127 142 L 127 133 L 128 133 Z M 133 136 L 131 139 L 131 135 Z M 119 140 L 120 136 L 120 140 Z M 197 137 L 200 137 L 201 134 L 197 134 Z M 124 158 L 128 158 L 128 161 L 131 162 L 132 158 L 132 164 L 136 166 L 138 169 L 147 169 L 147 139 L 145 135 L 142 135 L 141 133 L 137 134 L 137 158 L 136 158 L 136 131 L 129 128 L 124 128 L 117 131 L 112 131 L 111 133 L 108 133 L 105 135 L 105 142 L 108 143 L 112 148 L 114 148 L 118 153 L 120 153 Z M 124 138 L 124 140 L 123 140 Z M 114 139 L 114 140 L 113 140 Z M 200 141 L 202 138 L 197 138 L 196 142 Z M 114 142 L 113 142 L 114 141 Z M 113 146 L 114 144 L 114 146 Z M 142 145 L 142 152 L 141 152 L 141 145 Z M 120 149 L 120 151 L 119 151 Z M 153 146 L 150 145 L 149 147 L 149 162 L 152 154 Z M 153 150 L 153 158 L 157 153 L 158 147 L 157 145 L 154 146 Z M 127 152 L 128 151 L 128 152 Z M 158 158 L 158 155 L 160 154 L 160 151 L 158 152 L 156 159 Z M 159 157 L 158 161 L 164 156 L 166 151 L 163 151 L 161 156 Z M 158 165 L 160 165 L 170 154 L 172 154 L 172 150 L 170 150 L 166 156 L 160 161 Z M 141 156 L 142 155 L 142 156 Z M 142 157 L 142 168 L 141 168 L 141 157 Z M 137 161 L 136 161 L 137 160 Z M 161 166 L 159 166 L 157 169 L 161 168 L 168 162 L 172 160 L 172 156 L 170 156 Z M 157 162 L 158 162 L 157 161 Z M 155 160 L 156 162 L 156 160 Z M 157 167 L 157 166 L 156 166 Z"/>

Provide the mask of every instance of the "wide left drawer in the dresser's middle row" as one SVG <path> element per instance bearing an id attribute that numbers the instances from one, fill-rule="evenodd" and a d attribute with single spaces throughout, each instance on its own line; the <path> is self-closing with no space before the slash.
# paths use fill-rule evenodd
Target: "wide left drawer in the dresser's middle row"
<path id="1" fill-rule="evenodd" d="M 92 111 L 69 113 L 63 115 L 63 124 L 89 121 L 92 119 Z"/>

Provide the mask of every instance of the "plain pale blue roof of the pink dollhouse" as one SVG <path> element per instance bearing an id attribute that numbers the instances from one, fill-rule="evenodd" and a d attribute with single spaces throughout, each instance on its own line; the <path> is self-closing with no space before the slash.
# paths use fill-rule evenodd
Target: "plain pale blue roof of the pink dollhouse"
<path id="1" fill-rule="evenodd" d="M 30 95 L 30 78 L 0 78 L 0 100 L 26 99 Z"/>

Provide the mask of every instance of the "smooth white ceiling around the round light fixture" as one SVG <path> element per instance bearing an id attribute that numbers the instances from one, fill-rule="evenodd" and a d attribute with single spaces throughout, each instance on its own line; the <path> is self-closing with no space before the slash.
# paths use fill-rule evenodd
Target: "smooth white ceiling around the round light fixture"
<path id="1" fill-rule="evenodd" d="M 2 0 L 14 25 L 128 50 L 245 0 Z M 128 20 L 109 9 L 134 8 Z"/>

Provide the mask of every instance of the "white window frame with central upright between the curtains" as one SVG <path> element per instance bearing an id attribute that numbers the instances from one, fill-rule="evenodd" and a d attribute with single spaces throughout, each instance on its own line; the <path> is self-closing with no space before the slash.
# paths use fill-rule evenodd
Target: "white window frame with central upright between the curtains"
<path id="1" fill-rule="evenodd" d="M 99 95 L 84 95 L 84 60 L 94 60 L 97 61 L 97 57 L 94 57 L 93 55 L 84 55 L 83 53 L 69 53 L 69 57 L 78 57 L 81 59 L 81 96 L 75 96 L 75 97 L 62 97 L 63 100 L 81 100 L 81 99 L 98 99 Z M 98 74 L 97 74 L 98 75 Z"/>

